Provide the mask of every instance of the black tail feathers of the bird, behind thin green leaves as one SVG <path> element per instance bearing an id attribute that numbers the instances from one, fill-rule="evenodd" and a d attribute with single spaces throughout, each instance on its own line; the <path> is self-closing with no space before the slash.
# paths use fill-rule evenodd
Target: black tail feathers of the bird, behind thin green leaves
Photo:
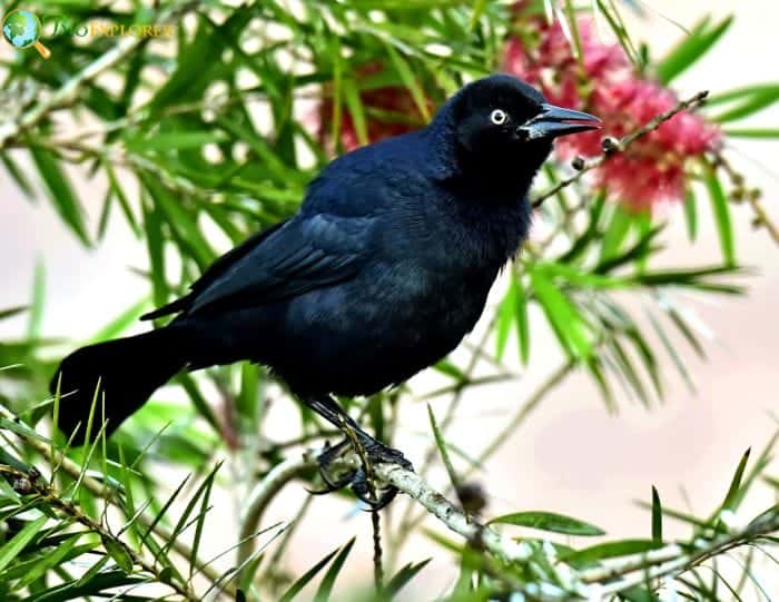
<path id="1" fill-rule="evenodd" d="M 92 420 L 92 436 L 107 421 L 110 434 L 185 367 L 184 330 L 168 326 L 150 333 L 82 347 L 62 359 L 49 385 L 59 386 L 59 427 L 66 436 L 77 428 L 73 443 L 83 441 L 96 387 L 100 383 Z M 102 399 L 105 398 L 105 404 Z M 105 405 L 105 415 L 103 415 Z"/>

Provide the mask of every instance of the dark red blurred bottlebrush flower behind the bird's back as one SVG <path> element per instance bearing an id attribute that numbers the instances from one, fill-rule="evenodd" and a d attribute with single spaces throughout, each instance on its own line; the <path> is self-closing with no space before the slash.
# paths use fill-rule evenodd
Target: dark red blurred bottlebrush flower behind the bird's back
<path id="1" fill-rule="evenodd" d="M 365 65 L 356 70 L 357 81 L 365 82 L 369 77 L 384 71 L 378 62 Z M 375 142 L 382 138 L 397 136 L 417 129 L 425 120 L 407 88 L 403 86 L 382 86 L 361 91 L 359 99 L 365 112 L 367 141 Z M 432 102 L 428 103 L 432 109 Z M 319 114 L 319 140 L 329 140 L 333 127 L 333 99 L 327 95 L 322 100 Z M 359 145 L 354 117 L 343 105 L 341 114 L 341 142 L 345 150 L 354 150 Z"/>

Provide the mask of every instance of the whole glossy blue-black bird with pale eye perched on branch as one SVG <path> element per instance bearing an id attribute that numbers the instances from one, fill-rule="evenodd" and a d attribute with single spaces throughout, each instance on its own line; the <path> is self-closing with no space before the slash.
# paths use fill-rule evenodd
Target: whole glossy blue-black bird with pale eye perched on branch
<path id="1" fill-rule="evenodd" d="M 98 379 L 110 433 L 177 372 L 249 359 L 336 427 L 348 425 L 368 458 L 411 466 L 333 395 L 396 385 L 457 346 L 527 235 L 527 191 L 553 139 L 598 127 L 511 76 L 466 85 L 427 127 L 335 159 L 295 216 L 144 316 L 176 314 L 167 326 L 66 357 L 51 383 L 69 394 L 60 428 L 86 423 Z M 326 452 L 322 465 L 346 446 Z M 364 476 L 331 484 L 352 482 L 366 499 Z M 382 505 L 394 493 L 366 501 Z"/>

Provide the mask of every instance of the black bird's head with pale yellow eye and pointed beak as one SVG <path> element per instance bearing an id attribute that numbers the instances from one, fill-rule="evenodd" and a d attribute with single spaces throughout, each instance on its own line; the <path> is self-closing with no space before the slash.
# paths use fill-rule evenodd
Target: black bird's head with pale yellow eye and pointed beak
<path id="1" fill-rule="evenodd" d="M 600 127 L 600 119 L 550 105 L 535 88 L 503 73 L 469 83 L 442 112 L 458 170 L 519 188 L 530 186 L 555 138 Z"/>

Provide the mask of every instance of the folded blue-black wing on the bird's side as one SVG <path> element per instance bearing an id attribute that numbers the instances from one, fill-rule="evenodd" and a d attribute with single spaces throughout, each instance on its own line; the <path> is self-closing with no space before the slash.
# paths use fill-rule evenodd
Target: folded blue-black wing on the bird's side
<path id="1" fill-rule="evenodd" d="M 372 218 L 326 214 L 294 218 L 195 283 L 188 314 L 264 305 L 352 278 L 364 257 Z M 240 248 L 240 247 L 239 247 Z"/>

